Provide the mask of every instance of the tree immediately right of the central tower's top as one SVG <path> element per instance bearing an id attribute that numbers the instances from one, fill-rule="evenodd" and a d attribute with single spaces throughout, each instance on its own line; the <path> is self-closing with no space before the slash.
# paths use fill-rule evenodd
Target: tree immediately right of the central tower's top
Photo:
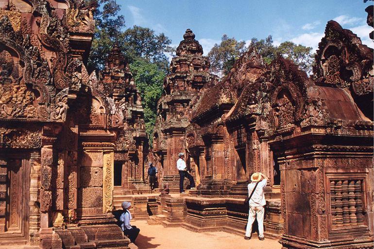
<path id="1" fill-rule="evenodd" d="M 228 74 L 235 61 L 245 51 L 245 42 L 237 41 L 234 37 L 222 35 L 221 43 L 215 44 L 209 51 L 210 70 L 216 74 Z"/>

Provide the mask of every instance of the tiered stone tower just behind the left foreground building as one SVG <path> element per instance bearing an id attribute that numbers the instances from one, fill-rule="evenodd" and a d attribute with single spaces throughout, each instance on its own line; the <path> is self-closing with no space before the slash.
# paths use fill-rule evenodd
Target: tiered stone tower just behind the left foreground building
<path id="1" fill-rule="evenodd" d="M 144 161 L 148 154 L 143 107 L 129 66 L 117 46 L 108 56 L 93 88 L 103 93 L 111 106 L 112 127 L 116 128 L 114 151 L 115 194 L 132 194 L 144 185 Z M 146 173 L 145 173 L 146 174 Z"/>

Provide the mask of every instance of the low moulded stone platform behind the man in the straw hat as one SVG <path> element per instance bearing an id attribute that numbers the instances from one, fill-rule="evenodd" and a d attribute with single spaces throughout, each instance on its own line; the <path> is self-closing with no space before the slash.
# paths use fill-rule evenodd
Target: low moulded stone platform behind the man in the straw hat
<path id="1" fill-rule="evenodd" d="M 124 195 L 115 198 L 116 209 L 121 209 L 121 201 L 131 201 L 130 212 L 134 220 L 147 220 L 149 225 L 183 227 L 192 232 L 228 232 L 244 236 L 248 221 L 248 207 L 244 205 L 244 199 L 206 198 L 197 196 L 195 191 L 169 195 Z M 265 210 L 265 236 L 278 239 L 283 231 L 280 199 L 268 199 Z M 256 230 L 254 223 L 254 238 L 257 237 Z"/>

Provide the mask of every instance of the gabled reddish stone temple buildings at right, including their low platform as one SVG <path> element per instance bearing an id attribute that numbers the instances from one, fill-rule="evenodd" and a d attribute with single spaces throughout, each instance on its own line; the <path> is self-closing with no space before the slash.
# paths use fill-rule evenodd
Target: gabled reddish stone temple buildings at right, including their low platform
<path id="1" fill-rule="evenodd" d="M 205 84 L 180 138 L 200 184 L 156 196 L 148 223 L 243 234 L 246 185 L 261 171 L 265 236 L 283 249 L 373 248 L 373 50 L 329 21 L 315 59 L 308 77 L 250 50 Z"/>

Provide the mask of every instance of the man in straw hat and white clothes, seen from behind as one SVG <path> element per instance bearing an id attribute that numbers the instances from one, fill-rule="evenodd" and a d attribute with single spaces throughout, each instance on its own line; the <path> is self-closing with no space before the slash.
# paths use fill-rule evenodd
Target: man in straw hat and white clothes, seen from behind
<path id="1" fill-rule="evenodd" d="M 251 239 L 252 235 L 252 224 L 257 216 L 258 223 L 258 239 L 264 240 L 264 206 L 266 200 L 264 196 L 264 188 L 266 187 L 267 177 L 260 173 L 253 173 L 251 176 L 252 183 L 248 184 L 248 196 L 249 196 L 249 215 L 247 230 L 245 232 L 244 239 Z"/>

